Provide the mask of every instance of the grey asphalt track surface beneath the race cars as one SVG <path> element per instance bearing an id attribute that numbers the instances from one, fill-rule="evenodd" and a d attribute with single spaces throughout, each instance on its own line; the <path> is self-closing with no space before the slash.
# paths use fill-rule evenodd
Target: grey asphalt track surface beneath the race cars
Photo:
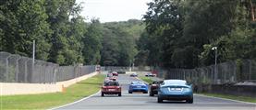
<path id="1" fill-rule="evenodd" d="M 194 95 L 194 104 L 184 102 L 157 103 L 157 97 L 148 93 L 128 93 L 128 83 L 138 81 L 128 74 L 119 75 L 117 81 L 122 84 L 122 96 L 100 93 L 75 104 L 58 108 L 59 110 L 256 110 L 256 104 L 239 103 L 230 100 Z"/>

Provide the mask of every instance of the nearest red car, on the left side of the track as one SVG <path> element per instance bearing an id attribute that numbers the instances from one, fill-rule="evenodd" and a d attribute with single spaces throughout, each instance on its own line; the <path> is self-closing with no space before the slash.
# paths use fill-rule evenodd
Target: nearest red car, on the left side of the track
<path id="1" fill-rule="evenodd" d="M 104 94 L 118 94 L 118 96 L 121 96 L 122 88 L 116 81 L 105 81 L 104 86 L 102 87 L 102 96 Z"/>

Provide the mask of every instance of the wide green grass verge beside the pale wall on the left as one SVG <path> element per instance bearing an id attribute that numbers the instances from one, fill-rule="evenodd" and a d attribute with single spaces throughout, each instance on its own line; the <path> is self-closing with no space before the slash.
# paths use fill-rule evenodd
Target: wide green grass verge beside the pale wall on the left
<path id="1" fill-rule="evenodd" d="M 66 88 L 65 93 L 1 96 L 0 109 L 47 109 L 68 104 L 100 90 L 104 75 L 96 75 Z"/>

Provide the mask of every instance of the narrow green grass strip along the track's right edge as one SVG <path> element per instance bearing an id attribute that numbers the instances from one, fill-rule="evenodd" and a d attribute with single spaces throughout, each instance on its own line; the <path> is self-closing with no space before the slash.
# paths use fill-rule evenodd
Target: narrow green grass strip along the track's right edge
<path id="1" fill-rule="evenodd" d="M 230 95 L 230 94 L 221 94 L 221 93 L 201 93 L 207 96 L 221 97 L 226 99 L 244 101 L 249 103 L 256 103 L 256 98 L 248 97 L 248 96 L 238 96 L 238 95 Z"/>

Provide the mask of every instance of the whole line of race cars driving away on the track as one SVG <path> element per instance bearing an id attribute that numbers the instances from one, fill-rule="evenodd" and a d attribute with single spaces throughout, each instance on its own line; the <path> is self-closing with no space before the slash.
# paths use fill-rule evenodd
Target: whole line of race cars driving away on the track
<path id="1" fill-rule="evenodd" d="M 102 96 L 104 94 L 118 94 L 122 95 L 121 85 L 116 81 L 118 73 L 110 71 L 106 75 L 104 85 L 102 87 Z M 130 77 L 137 77 L 137 73 L 131 73 Z M 152 74 L 146 74 L 147 77 L 154 77 Z M 185 80 L 164 80 L 154 81 L 149 83 L 145 82 L 130 82 L 128 93 L 142 92 L 148 93 L 150 96 L 157 94 L 157 102 L 163 103 L 164 100 L 178 100 L 186 101 L 189 104 L 193 103 L 193 89 L 192 85 Z"/>

